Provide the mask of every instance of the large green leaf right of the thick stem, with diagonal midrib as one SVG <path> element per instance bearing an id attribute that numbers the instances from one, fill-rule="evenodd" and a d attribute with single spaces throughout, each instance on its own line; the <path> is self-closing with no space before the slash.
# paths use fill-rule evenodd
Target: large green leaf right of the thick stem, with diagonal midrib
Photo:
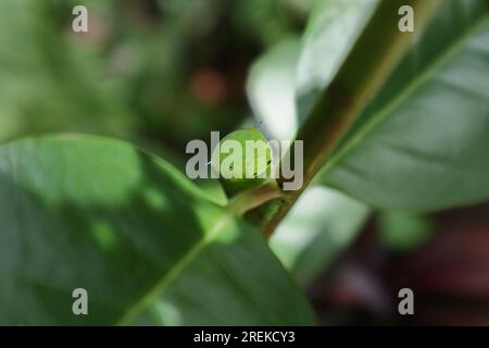
<path id="1" fill-rule="evenodd" d="M 322 181 L 389 209 L 431 211 L 487 200 L 488 48 L 487 2 L 443 1 L 340 142 Z"/>

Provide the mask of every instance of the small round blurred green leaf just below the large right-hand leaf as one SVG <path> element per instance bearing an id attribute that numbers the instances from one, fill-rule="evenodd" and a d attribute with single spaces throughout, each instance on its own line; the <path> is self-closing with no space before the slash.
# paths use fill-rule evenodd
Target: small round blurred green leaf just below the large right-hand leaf
<path id="1" fill-rule="evenodd" d="M 380 241 L 390 250 L 405 252 L 418 248 L 432 236 L 435 226 L 427 216 L 383 212 L 378 217 Z"/>

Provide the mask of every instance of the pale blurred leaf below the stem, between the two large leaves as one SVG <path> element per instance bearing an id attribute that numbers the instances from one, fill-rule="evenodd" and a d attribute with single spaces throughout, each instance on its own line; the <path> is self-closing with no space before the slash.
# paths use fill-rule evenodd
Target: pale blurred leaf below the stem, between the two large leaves
<path id="1" fill-rule="evenodd" d="M 278 225 L 271 247 L 308 285 L 353 240 L 367 215 L 366 206 L 335 190 L 312 187 Z"/>

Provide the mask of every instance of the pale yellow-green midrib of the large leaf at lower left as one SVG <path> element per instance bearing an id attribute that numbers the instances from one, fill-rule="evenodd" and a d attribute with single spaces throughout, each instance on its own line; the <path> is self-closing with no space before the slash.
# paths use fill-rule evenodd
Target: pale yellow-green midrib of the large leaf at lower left
<path id="1" fill-rule="evenodd" d="M 164 289 L 223 232 L 223 227 L 233 221 L 235 216 L 231 212 L 223 213 L 209 233 L 204 235 L 188 252 L 139 301 L 134 303 L 126 313 L 116 322 L 116 325 L 128 325 L 145 309 L 150 307 L 160 297 Z"/>

